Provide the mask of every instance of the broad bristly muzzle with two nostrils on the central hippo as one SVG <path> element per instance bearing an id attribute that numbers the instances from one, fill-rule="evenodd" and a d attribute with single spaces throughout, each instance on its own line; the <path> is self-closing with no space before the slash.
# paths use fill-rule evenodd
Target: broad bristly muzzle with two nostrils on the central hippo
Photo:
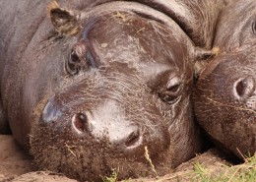
<path id="1" fill-rule="evenodd" d="M 159 165 L 173 152 L 168 120 L 143 82 L 121 77 L 95 75 L 55 93 L 32 129 L 35 161 L 72 177 L 79 172 L 80 179 L 97 180 L 113 169 L 121 178 L 154 175 L 145 153 Z"/>

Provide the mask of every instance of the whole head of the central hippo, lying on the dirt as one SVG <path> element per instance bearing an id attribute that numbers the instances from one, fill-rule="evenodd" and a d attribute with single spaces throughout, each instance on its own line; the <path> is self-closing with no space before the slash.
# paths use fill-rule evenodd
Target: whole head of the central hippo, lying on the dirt
<path id="1" fill-rule="evenodd" d="M 81 16 L 50 11 L 61 36 L 53 38 L 37 82 L 38 100 L 47 95 L 31 134 L 41 168 L 80 180 L 161 175 L 200 151 L 189 38 L 171 21 L 169 29 L 114 8 Z"/>

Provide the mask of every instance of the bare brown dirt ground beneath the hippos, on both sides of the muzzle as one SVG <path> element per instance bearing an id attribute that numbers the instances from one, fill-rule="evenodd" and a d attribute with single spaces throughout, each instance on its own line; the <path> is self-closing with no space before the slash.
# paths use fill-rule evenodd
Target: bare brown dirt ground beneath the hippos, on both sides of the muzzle
<path id="1" fill-rule="evenodd" d="M 158 179 L 137 179 L 137 182 L 153 181 L 190 181 L 187 175 L 194 169 L 195 162 L 202 163 L 211 168 L 212 172 L 222 170 L 223 164 L 227 164 L 220 152 L 213 149 L 196 156 L 178 166 L 174 173 L 167 174 Z M 76 180 L 66 178 L 61 174 L 50 171 L 35 171 L 32 158 L 24 152 L 15 142 L 11 135 L 0 135 L 0 182 L 75 182 Z"/>

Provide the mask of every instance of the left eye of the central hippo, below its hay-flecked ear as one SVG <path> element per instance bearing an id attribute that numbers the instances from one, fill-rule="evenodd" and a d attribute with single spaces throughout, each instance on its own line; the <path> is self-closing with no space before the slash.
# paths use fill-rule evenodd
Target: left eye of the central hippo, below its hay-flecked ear
<path id="1" fill-rule="evenodd" d="M 70 75 L 76 75 L 79 72 L 79 63 L 81 60 L 75 50 L 72 50 L 66 63 L 66 70 Z"/>

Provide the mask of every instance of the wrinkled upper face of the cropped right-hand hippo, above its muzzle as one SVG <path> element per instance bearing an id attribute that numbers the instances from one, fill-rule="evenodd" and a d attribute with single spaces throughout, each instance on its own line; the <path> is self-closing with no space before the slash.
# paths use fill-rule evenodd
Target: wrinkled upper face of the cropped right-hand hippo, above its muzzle
<path id="1" fill-rule="evenodd" d="M 233 52 L 256 44 L 256 1 L 238 0 L 226 6 L 219 16 L 215 46 Z"/>

